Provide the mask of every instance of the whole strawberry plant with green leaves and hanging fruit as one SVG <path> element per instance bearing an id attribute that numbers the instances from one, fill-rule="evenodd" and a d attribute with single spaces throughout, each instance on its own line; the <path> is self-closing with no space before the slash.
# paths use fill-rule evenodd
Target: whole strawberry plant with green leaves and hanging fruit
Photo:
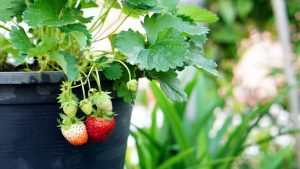
<path id="1" fill-rule="evenodd" d="M 85 133 L 79 133 L 85 130 L 77 119 L 79 110 L 88 116 L 86 125 L 93 142 L 106 139 L 115 126 L 109 92 L 133 102 L 140 77 L 157 81 L 170 100 L 182 102 L 187 95 L 177 72 L 193 66 L 217 76 L 215 62 L 202 50 L 209 29 L 198 23 L 212 23 L 218 18 L 202 8 L 179 6 L 178 0 L 0 3 L 0 27 L 9 32 L 8 37 L 0 36 L 1 71 L 65 73 L 67 80 L 61 85 L 58 102 L 65 114 L 61 114 L 62 134 L 71 144 L 86 142 Z M 98 9 L 99 15 L 86 17 L 87 8 Z M 117 25 L 105 28 L 112 9 L 120 12 L 120 17 Z M 120 32 L 128 18 L 140 19 L 145 33 L 133 29 Z M 107 41 L 110 50 L 95 46 Z M 100 77 L 112 81 L 114 91 L 103 91 Z M 74 94 L 75 88 L 82 89 L 82 98 Z M 78 135 L 81 140 L 72 141 Z"/>

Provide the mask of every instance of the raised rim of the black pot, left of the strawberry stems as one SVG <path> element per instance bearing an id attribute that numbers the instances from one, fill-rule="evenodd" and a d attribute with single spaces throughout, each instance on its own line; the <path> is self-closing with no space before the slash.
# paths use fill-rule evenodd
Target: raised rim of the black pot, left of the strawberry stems
<path id="1" fill-rule="evenodd" d="M 66 80 L 62 71 L 0 72 L 0 84 L 61 83 Z"/>

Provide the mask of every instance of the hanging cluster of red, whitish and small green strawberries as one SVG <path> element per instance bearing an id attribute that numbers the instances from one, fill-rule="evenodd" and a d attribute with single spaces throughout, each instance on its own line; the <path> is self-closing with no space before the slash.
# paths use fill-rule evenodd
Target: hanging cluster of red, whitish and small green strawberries
<path id="1" fill-rule="evenodd" d="M 59 120 L 62 135 L 72 145 L 86 144 L 88 138 L 92 143 L 106 140 L 115 127 L 115 114 L 109 93 L 90 89 L 88 97 L 79 102 L 72 93 L 72 83 L 64 82 L 59 95 L 59 103 L 64 114 Z M 77 118 L 78 108 L 85 113 L 84 118 Z"/>

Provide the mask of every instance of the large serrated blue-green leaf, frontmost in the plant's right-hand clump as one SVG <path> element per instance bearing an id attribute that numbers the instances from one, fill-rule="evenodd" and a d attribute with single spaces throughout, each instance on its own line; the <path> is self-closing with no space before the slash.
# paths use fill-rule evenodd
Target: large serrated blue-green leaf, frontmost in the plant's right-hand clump
<path id="1" fill-rule="evenodd" d="M 183 66 L 188 52 L 186 38 L 176 29 L 170 28 L 158 35 L 156 43 L 142 50 L 136 62 L 140 69 L 168 71 Z"/>

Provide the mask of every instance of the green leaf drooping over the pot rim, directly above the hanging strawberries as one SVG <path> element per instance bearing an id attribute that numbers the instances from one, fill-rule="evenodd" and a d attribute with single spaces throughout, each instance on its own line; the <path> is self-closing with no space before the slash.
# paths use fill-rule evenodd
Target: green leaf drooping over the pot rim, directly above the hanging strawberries
<path id="1" fill-rule="evenodd" d="M 50 60 L 56 62 L 65 72 L 69 80 L 76 80 L 79 70 L 77 60 L 74 55 L 64 51 L 54 52 L 50 55 Z"/>

